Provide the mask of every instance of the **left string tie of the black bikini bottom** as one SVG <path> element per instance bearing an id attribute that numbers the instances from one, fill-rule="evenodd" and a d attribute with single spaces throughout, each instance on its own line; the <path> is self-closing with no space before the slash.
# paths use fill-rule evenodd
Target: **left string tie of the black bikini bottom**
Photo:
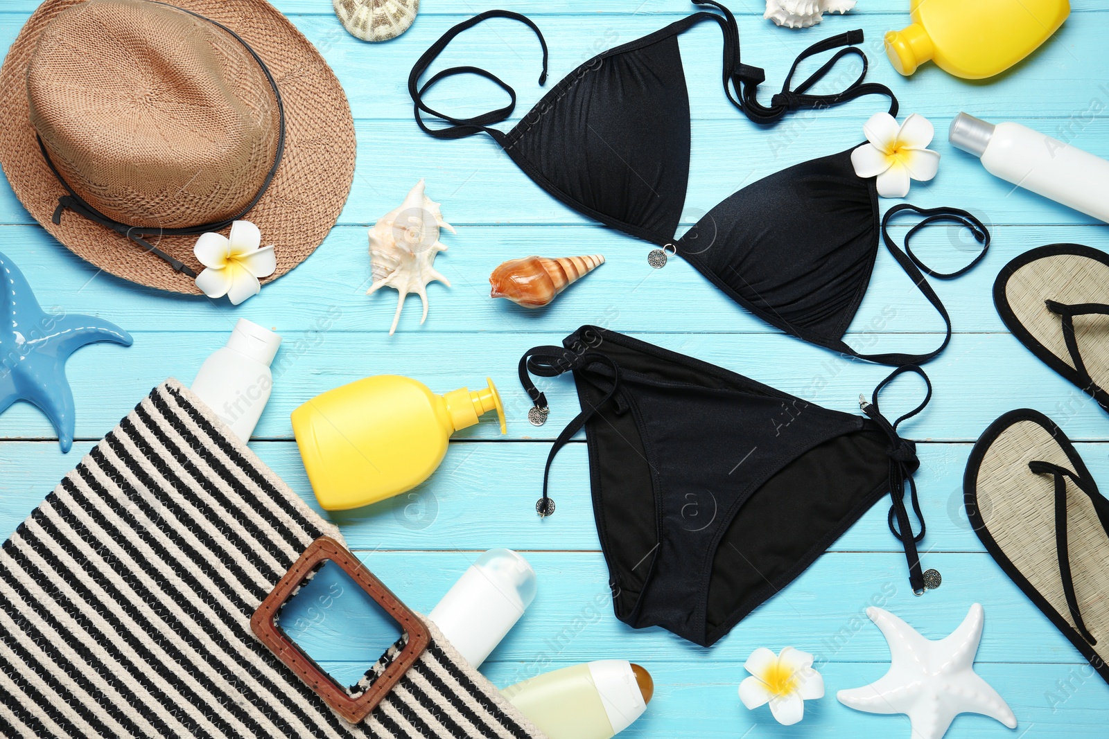
<path id="1" fill-rule="evenodd" d="M 554 456 L 602 406 L 612 400 L 617 393 L 617 389 L 620 387 L 620 367 L 613 359 L 599 351 L 591 351 L 586 347 L 580 347 L 579 349 L 581 350 L 564 349 L 562 347 L 536 347 L 528 350 L 520 358 L 520 384 L 527 391 L 528 397 L 535 404 L 535 409 L 545 417 L 548 412 L 547 396 L 536 388 L 530 374 L 535 374 L 536 377 L 558 377 L 563 372 L 583 369 L 596 362 L 603 362 L 612 372 L 612 386 L 606 390 L 604 397 L 597 404 L 589 404 L 584 397 L 582 397 L 581 402 L 588 404 L 588 408 L 582 409 L 572 421 L 567 423 L 566 428 L 562 429 L 551 445 L 551 451 L 547 454 L 547 465 L 543 468 L 543 495 L 536 501 L 536 513 L 539 514 L 540 519 L 554 513 L 554 501 L 547 494 L 547 484 L 550 479 L 551 463 L 554 461 Z"/>

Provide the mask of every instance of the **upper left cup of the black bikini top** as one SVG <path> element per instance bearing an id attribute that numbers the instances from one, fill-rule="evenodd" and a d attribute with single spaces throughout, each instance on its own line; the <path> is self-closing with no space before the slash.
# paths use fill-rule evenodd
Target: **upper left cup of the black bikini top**
<path id="1" fill-rule="evenodd" d="M 501 144 L 566 205 L 663 244 L 685 203 L 690 101 L 678 37 L 657 35 L 582 64 Z"/>

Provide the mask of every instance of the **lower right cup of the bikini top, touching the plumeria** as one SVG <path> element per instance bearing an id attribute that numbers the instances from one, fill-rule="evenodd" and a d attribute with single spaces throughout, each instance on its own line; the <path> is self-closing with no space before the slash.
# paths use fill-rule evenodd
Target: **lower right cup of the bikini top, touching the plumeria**
<path id="1" fill-rule="evenodd" d="M 744 187 L 675 246 L 766 322 L 838 348 L 871 280 L 878 223 L 874 178 L 855 174 L 848 150 Z"/>

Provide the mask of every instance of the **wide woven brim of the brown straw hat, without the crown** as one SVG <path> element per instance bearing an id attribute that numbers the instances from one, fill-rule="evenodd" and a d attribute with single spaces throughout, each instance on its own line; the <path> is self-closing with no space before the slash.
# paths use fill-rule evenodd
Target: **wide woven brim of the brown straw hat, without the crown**
<path id="1" fill-rule="evenodd" d="M 200 295 L 192 277 L 130 239 L 72 213 L 52 222 L 65 192 L 47 165 L 31 125 L 27 69 L 39 34 L 84 0 L 47 0 L 11 44 L 0 70 L 0 165 L 16 196 L 65 248 L 95 267 L 147 287 Z M 240 34 L 269 68 L 285 107 L 285 153 L 262 199 L 245 216 L 274 245 L 281 277 L 304 261 L 338 219 L 354 179 L 354 120 L 346 94 L 316 48 L 265 0 L 174 0 Z M 150 239 L 193 267 L 195 236 Z"/>

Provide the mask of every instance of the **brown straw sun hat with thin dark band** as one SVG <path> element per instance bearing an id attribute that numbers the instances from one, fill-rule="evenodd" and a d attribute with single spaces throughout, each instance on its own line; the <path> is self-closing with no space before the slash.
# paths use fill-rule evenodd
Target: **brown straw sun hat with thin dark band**
<path id="1" fill-rule="evenodd" d="M 0 164 L 67 248 L 199 294 L 201 233 L 273 244 L 276 278 L 338 218 L 354 122 L 316 49 L 264 0 L 47 0 L 0 71 Z"/>

